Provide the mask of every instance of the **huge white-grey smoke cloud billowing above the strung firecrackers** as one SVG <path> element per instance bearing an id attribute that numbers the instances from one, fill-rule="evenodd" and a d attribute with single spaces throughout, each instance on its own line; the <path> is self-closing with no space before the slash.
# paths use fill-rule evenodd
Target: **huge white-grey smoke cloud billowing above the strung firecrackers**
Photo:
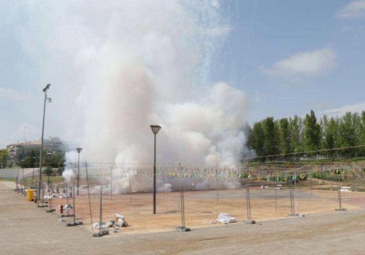
<path id="1" fill-rule="evenodd" d="M 212 83 L 232 31 L 220 1 L 31 1 L 20 29 L 52 83 L 59 132 L 93 162 L 234 165 L 246 94 Z M 85 5 L 87 8 L 85 8 Z M 219 63 L 215 63 L 219 64 Z M 77 154 L 69 154 L 71 160 Z M 171 187 L 162 187 L 169 189 Z"/>

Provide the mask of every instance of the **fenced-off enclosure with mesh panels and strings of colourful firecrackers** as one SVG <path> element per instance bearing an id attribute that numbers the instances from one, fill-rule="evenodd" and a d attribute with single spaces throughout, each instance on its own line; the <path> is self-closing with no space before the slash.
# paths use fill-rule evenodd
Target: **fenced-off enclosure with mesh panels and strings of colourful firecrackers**
<path id="1" fill-rule="evenodd" d="M 88 164 L 86 174 L 85 164 L 80 164 L 77 189 L 77 164 L 70 164 L 67 185 L 62 182 L 48 187 L 45 181 L 44 190 L 46 195 L 49 190 L 55 193 L 52 203 L 57 208 L 72 204 L 74 196 L 76 208 L 72 213 L 90 229 L 92 223 L 100 221 L 101 198 L 102 222 L 115 221 L 115 214 L 123 215 L 128 227 L 120 228 L 120 232 L 132 234 L 170 231 L 184 224 L 193 229 L 216 226 L 222 224 L 217 221 L 221 213 L 237 221 L 257 221 L 365 208 L 364 169 L 363 163 L 250 168 L 158 165 L 156 214 L 153 165 L 94 163 Z M 20 184 L 31 185 L 26 179 Z M 60 198 L 56 190 L 65 193 L 65 187 L 74 187 L 75 194 L 66 192 L 67 196 Z"/>

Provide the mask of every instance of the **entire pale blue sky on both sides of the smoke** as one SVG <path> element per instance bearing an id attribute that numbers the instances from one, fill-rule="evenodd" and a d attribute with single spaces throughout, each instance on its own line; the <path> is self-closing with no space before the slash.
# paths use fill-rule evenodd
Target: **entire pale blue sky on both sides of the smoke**
<path id="1" fill-rule="evenodd" d="M 319 116 L 365 109 L 364 0 L 219 4 L 231 30 L 214 58 L 210 81 L 226 81 L 247 93 L 249 123 L 268 116 L 304 115 L 311 109 Z M 33 22 L 28 12 L 11 1 L 0 3 L 0 147 L 22 140 L 24 127 L 27 139 L 40 136 L 41 89 L 51 74 L 46 73 L 49 63 L 37 59 L 50 58 L 44 45 L 29 51 L 22 38 Z M 26 32 L 42 38 L 51 28 L 49 24 Z M 58 82 L 68 79 L 72 76 Z M 59 89 L 53 89 L 57 94 Z M 60 121 L 59 108 L 51 103 L 47 111 L 48 121 Z M 67 137 L 57 124 L 45 134 L 62 135 Z"/>

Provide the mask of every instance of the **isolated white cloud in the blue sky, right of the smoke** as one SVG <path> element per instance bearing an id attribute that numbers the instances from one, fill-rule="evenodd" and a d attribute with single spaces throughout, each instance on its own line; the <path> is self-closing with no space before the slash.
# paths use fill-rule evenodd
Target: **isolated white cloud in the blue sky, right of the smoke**
<path id="1" fill-rule="evenodd" d="M 270 75 L 317 75 L 335 66 L 336 51 L 326 47 L 315 51 L 298 52 L 275 62 L 271 68 L 263 68 Z"/>

